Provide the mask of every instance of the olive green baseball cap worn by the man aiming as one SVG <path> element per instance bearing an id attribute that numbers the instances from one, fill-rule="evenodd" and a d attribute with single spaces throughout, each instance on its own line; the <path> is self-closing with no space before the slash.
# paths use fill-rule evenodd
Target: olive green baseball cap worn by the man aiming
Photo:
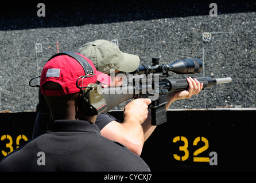
<path id="1" fill-rule="evenodd" d="M 109 74 L 110 70 L 132 72 L 139 66 L 137 55 L 123 53 L 117 45 L 110 41 L 98 39 L 88 42 L 77 51 L 89 58 L 97 70 Z"/>

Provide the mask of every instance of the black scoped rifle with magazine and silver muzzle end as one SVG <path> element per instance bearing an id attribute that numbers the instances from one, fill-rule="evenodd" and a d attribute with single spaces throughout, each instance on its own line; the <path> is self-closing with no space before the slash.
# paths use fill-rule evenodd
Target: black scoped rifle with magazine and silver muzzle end
<path id="1" fill-rule="evenodd" d="M 196 74 L 202 70 L 202 62 L 195 59 L 181 59 L 171 64 L 159 65 L 159 58 L 152 58 L 153 65 L 139 65 L 138 69 L 128 74 L 128 85 L 124 87 L 106 87 L 102 89 L 108 112 L 115 106 L 131 98 L 150 98 L 152 125 L 160 125 L 167 121 L 165 104 L 170 92 L 188 90 L 186 78 L 169 78 L 172 71 L 176 74 Z M 228 83 L 232 78 L 197 77 L 203 83 L 203 89 L 220 83 Z"/>

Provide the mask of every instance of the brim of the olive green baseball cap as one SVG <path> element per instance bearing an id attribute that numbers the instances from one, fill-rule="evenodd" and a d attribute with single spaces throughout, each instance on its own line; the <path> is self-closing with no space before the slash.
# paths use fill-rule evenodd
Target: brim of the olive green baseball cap
<path id="1" fill-rule="evenodd" d="M 139 57 L 137 55 L 123 53 L 123 56 L 125 59 L 123 60 L 123 63 L 117 70 L 130 73 L 138 68 Z"/>

